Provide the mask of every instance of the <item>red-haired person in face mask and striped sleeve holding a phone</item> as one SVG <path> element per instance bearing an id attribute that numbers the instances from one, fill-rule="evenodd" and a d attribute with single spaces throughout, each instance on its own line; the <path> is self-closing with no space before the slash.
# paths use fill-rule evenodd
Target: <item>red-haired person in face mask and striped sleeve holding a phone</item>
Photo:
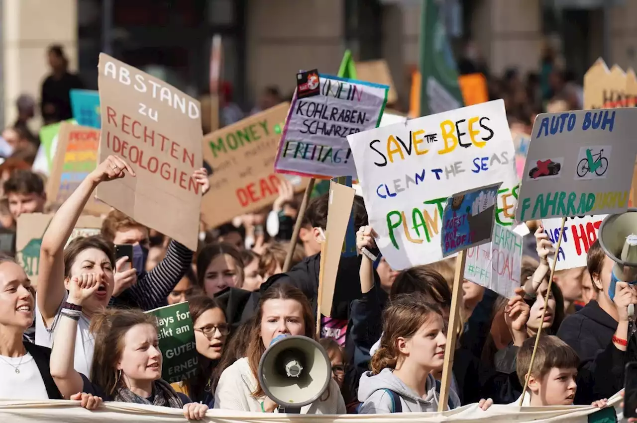
<path id="1" fill-rule="evenodd" d="M 201 185 L 202 195 L 210 190 L 205 169 L 193 172 Z M 111 211 L 102 223 L 103 237 L 113 244 L 132 244 L 132 268 L 125 268 L 131 258 L 122 257 L 115 263 L 115 286 L 110 305 L 120 308 L 153 310 L 166 305 L 166 297 L 175 289 L 192 263 L 193 252 L 171 240 L 166 256 L 150 272 L 146 272 L 148 228 L 124 213 Z"/>

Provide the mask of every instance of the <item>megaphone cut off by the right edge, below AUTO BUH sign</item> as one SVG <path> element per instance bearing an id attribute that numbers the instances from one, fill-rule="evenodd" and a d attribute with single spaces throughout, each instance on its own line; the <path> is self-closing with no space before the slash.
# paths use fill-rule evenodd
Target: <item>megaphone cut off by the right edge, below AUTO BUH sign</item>
<path id="1" fill-rule="evenodd" d="M 599 226 L 598 239 L 606 255 L 615 261 L 608 288 L 612 300 L 617 281 L 637 284 L 637 209 L 606 216 Z"/>

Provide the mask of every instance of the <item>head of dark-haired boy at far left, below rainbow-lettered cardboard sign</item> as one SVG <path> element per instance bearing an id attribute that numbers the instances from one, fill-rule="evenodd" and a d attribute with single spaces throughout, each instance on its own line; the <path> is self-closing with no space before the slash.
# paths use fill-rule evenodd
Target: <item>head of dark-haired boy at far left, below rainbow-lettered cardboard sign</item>
<path id="1" fill-rule="evenodd" d="M 14 219 L 17 220 L 22 213 L 44 212 L 47 203 L 44 181 L 31 170 L 15 170 L 4 181 L 3 189 Z"/>

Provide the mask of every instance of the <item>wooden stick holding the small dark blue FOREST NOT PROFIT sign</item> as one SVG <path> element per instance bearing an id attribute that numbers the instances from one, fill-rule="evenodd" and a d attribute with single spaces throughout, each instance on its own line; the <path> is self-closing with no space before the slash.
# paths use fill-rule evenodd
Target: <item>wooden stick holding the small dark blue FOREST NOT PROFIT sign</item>
<path id="1" fill-rule="evenodd" d="M 449 326 L 447 328 L 447 346 L 445 347 L 445 364 L 442 368 L 442 380 L 440 387 L 440 399 L 438 411 L 443 412 L 447 408 L 449 401 L 449 391 L 451 386 L 451 376 L 454 371 L 455 345 L 458 339 L 458 323 L 460 319 L 460 298 L 462 292 L 462 280 L 464 279 L 464 265 L 467 261 L 465 250 L 458 253 L 455 260 L 454 292 L 451 296 L 451 310 L 449 315 Z"/>

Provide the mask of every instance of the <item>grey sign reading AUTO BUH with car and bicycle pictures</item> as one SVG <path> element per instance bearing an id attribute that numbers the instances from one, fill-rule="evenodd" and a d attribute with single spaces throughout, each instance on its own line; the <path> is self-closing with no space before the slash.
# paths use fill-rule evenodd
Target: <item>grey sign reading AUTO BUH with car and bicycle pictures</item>
<path id="1" fill-rule="evenodd" d="M 637 109 L 540 114 L 533 125 L 517 221 L 625 212 Z"/>

